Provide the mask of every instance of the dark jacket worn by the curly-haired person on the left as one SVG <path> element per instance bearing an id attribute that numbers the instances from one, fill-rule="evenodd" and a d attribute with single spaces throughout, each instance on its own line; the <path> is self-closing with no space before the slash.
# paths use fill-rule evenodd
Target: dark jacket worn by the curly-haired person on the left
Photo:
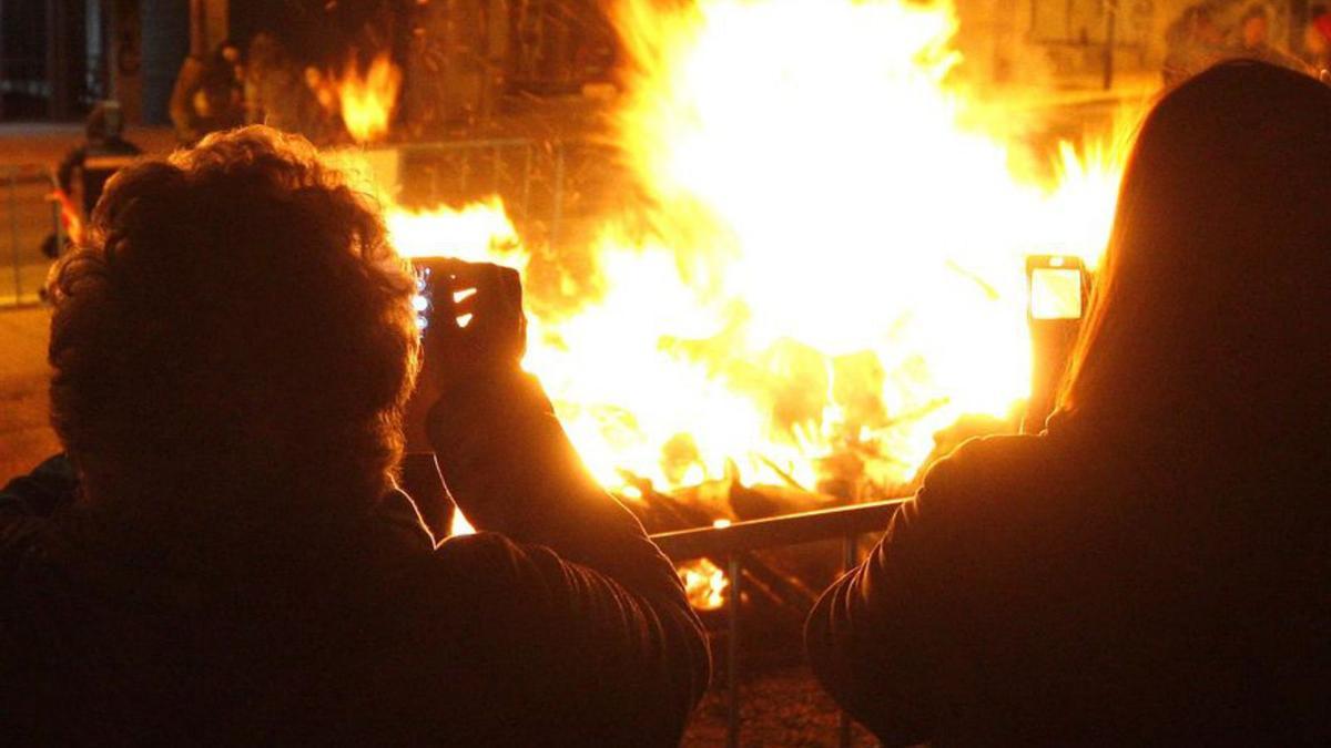
<path id="1" fill-rule="evenodd" d="M 532 379 L 455 395 L 431 439 L 486 495 L 438 548 L 401 492 L 226 551 L 126 540 L 63 458 L 12 482 L 0 744 L 676 744 L 708 655 L 673 567 Z"/>

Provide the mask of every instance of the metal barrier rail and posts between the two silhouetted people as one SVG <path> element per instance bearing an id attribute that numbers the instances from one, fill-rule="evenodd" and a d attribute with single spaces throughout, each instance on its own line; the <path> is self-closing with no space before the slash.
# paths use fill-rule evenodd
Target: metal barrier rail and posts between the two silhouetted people
<path id="1" fill-rule="evenodd" d="M 858 563 L 860 535 L 885 530 L 897 507 L 905 500 L 904 498 L 890 499 L 772 519 L 736 522 L 725 527 L 701 527 L 652 535 L 652 540 L 676 563 L 701 556 L 727 559 L 725 575 L 731 587 L 725 603 L 725 744 L 729 748 L 737 748 L 740 744 L 740 579 L 744 571 L 744 555 L 763 548 L 840 538 L 843 570 L 849 571 Z M 843 747 L 851 744 L 851 719 L 845 712 L 841 712 L 837 727 L 837 744 Z"/>

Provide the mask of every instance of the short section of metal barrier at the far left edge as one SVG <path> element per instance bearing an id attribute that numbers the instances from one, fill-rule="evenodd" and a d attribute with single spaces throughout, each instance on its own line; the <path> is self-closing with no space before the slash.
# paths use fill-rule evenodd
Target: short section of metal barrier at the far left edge
<path id="1" fill-rule="evenodd" d="M 39 303 L 51 260 L 41 253 L 43 241 L 64 240 L 60 206 L 49 198 L 51 169 L 39 164 L 0 165 L 0 232 L 9 252 L 0 266 L 8 265 L 0 281 L 0 307 Z"/>

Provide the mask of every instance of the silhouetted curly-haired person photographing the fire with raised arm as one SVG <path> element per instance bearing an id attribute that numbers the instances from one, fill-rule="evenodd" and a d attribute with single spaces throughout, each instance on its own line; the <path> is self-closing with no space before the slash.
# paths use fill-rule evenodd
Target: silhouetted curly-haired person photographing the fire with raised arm
<path id="1" fill-rule="evenodd" d="M 303 140 L 134 165 L 91 229 L 52 280 L 68 458 L 0 492 L 0 744 L 679 741 L 699 622 L 518 367 L 515 273 L 454 265 L 471 323 L 409 399 L 414 278 Z M 405 438 L 479 534 L 435 547 Z"/>

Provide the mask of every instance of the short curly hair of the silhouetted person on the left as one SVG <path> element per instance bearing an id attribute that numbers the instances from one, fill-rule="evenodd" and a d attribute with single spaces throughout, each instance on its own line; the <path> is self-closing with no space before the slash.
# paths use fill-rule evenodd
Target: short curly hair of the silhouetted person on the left
<path id="1" fill-rule="evenodd" d="M 89 228 L 48 290 L 52 423 L 93 499 L 382 495 L 417 338 L 371 198 L 250 126 L 126 168 Z"/>

